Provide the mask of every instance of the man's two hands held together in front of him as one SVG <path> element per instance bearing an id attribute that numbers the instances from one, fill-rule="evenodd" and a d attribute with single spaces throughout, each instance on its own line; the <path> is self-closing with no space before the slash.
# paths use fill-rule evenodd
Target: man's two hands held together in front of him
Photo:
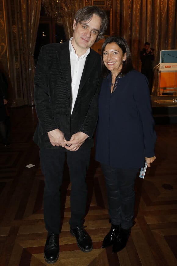
<path id="1" fill-rule="evenodd" d="M 49 140 L 52 146 L 62 146 L 67 150 L 76 151 L 88 138 L 88 135 L 83 132 L 77 132 L 71 136 L 71 139 L 67 141 L 64 137 L 63 132 L 56 128 L 48 132 Z"/>

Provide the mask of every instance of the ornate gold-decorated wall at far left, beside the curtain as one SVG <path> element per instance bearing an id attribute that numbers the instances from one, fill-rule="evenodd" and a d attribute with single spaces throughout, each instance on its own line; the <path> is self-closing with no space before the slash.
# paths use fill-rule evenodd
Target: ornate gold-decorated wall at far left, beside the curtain
<path id="1" fill-rule="evenodd" d="M 15 2 L 0 2 L 0 62 L 9 76 L 9 102 L 12 106 L 24 104 Z"/>

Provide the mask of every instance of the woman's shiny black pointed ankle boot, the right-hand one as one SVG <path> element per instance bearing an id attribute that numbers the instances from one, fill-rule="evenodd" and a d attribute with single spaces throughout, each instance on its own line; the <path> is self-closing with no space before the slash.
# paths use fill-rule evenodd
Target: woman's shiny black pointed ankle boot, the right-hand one
<path id="1" fill-rule="evenodd" d="M 131 228 L 129 229 L 120 229 L 120 234 L 117 240 L 113 243 L 113 253 L 121 251 L 127 245 L 129 235 L 131 233 Z"/>

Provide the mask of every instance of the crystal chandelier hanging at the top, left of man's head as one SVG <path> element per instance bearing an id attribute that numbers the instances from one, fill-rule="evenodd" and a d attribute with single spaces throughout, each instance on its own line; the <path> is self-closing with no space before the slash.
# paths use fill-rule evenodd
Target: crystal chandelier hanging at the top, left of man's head
<path id="1" fill-rule="evenodd" d="M 58 24 L 63 24 L 63 17 L 75 14 L 77 0 L 42 0 L 45 13 L 56 19 Z"/>

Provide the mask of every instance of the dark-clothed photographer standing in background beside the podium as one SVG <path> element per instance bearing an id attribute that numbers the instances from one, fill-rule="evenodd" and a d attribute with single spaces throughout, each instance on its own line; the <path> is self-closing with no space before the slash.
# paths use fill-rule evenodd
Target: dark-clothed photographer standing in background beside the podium
<path id="1" fill-rule="evenodd" d="M 140 58 L 141 58 L 141 73 L 144 74 L 149 81 L 149 90 L 151 94 L 153 77 L 154 77 L 154 71 L 152 66 L 152 61 L 154 61 L 154 49 L 150 47 L 149 42 L 145 42 L 143 50 L 140 51 Z"/>

